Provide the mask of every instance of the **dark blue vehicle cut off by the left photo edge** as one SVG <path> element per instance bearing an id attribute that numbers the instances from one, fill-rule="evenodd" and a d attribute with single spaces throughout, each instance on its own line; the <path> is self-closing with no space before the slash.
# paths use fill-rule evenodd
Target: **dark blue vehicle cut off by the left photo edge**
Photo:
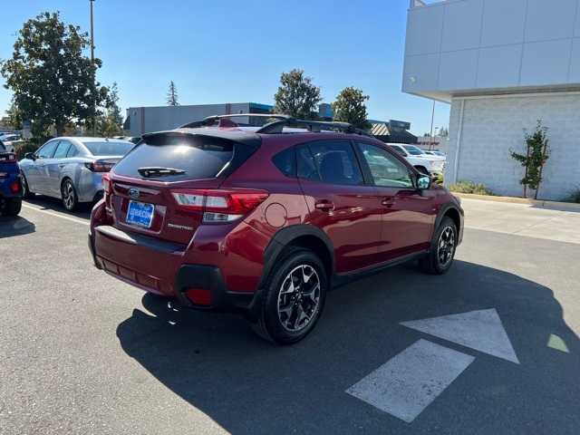
<path id="1" fill-rule="evenodd" d="M 16 216 L 22 208 L 22 182 L 18 160 L 0 141 L 0 213 Z"/>

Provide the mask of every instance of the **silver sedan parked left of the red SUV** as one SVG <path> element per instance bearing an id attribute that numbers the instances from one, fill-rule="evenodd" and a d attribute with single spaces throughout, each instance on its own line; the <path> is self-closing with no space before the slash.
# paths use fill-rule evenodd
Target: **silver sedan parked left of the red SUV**
<path id="1" fill-rule="evenodd" d="M 102 174 L 133 148 L 126 140 L 62 137 L 47 141 L 20 162 L 24 197 L 61 198 L 67 210 L 102 197 Z"/>

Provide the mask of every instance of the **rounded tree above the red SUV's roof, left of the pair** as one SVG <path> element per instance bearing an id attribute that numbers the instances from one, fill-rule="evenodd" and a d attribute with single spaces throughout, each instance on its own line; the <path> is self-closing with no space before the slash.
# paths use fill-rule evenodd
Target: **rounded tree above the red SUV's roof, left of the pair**
<path id="1" fill-rule="evenodd" d="M 276 112 L 312 120 L 317 117 L 318 103 L 322 98 L 320 88 L 314 86 L 312 78 L 305 77 L 303 70 L 295 69 L 282 73 L 274 100 Z"/>

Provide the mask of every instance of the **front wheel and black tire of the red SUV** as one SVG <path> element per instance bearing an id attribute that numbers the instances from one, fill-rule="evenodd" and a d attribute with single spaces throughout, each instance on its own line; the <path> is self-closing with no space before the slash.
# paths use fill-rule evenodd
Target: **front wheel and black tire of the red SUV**
<path id="1" fill-rule="evenodd" d="M 443 233 L 446 236 L 442 236 Z M 452 237 L 451 245 L 446 242 L 445 247 L 440 247 L 441 240 L 449 240 L 448 236 Z M 458 232 L 455 222 L 451 218 L 443 218 L 440 226 L 433 234 L 429 254 L 420 259 L 420 267 L 423 272 L 430 275 L 443 275 L 447 273 L 453 265 L 457 242 Z"/>

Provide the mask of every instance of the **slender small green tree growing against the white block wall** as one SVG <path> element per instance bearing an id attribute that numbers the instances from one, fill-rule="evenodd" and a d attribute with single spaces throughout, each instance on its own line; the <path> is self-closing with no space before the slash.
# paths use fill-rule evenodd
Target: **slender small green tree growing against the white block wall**
<path id="1" fill-rule="evenodd" d="M 537 199 L 537 192 L 542 182 L 542 171 L 549 158 L 549 148 L 547 139 L 547 128 L 542 125 L 542 121 L 537 121 L 536 131 L 532 134 L 525 132 L 526 154 L 519 154 L 510 150 L 512 159 L 517 160 L 525 169 L 524 178 L 519 184 L 524 186 L 524 197 L 527 197 L 527 188 L 535 190 L 534 198 Z"/>

